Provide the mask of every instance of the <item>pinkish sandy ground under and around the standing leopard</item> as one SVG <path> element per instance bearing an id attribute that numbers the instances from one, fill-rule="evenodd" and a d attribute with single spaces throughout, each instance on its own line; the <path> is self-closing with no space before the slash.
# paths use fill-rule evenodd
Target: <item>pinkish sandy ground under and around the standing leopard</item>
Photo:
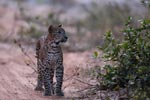
<path id="1" fill-rule="evenodd" d="M 33 49 L 26 50 L 33 62 L 36 62 Z M 75 91 L 85 87 L 85 84 L 73 78 L 78 78 L 80 67 L 88 67 L 85 63 L 90 57 L 88 52 L 64 53 L 65 97 L 45 97 L 43 93 L 34 91 L 37 74 L 31 68 L 35 66 L 26 65 L 30 62 L 29 58 L 15 44 L 0 43 L 0 100 L 70 100 L 77 96 L 78 93 Z"/>

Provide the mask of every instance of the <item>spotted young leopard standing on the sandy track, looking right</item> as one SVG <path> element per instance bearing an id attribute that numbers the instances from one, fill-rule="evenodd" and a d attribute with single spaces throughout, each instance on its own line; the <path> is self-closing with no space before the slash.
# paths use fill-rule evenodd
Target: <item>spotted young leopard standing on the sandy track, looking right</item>
<path id="1" fill-rule="evenodd" d="M 64 65 L 61 44 L 67 40 L 68 36 L 62 25 L 50 25 L 48 33 L 41 36 L 36 43 L 38 75 L 35 91 L 44 91 L 44 96 L 64 96 L 62 91 Z"/>

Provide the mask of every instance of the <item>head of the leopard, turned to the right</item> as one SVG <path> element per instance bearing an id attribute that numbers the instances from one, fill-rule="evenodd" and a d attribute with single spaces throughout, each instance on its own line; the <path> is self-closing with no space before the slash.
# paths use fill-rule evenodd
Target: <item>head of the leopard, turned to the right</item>
<path id="1" fill-rule="evenodd" d="M 53 37 L 53 40 L 56 44 L 61 42 L 66 42 L 68 37 L 65 30 L 62 28 L 62 25 L 53 26 L 50 25 L 48 28 L 49 35 Z"/>

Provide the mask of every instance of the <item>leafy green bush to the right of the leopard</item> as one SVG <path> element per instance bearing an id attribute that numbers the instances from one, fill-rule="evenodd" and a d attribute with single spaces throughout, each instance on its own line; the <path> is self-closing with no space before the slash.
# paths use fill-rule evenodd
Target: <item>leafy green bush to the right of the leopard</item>
<path id="1" fill-rule="evenodd" d="M 103 57 L 105 74 L 99 72 L 101 85 L 107 89 L 126 88 L 133 100 L 150 99 L 150 20 L 140 21 L 138 28 L 131 25 L 130 17 L 119 42 L 109 31 L 104 36 Z"/>

